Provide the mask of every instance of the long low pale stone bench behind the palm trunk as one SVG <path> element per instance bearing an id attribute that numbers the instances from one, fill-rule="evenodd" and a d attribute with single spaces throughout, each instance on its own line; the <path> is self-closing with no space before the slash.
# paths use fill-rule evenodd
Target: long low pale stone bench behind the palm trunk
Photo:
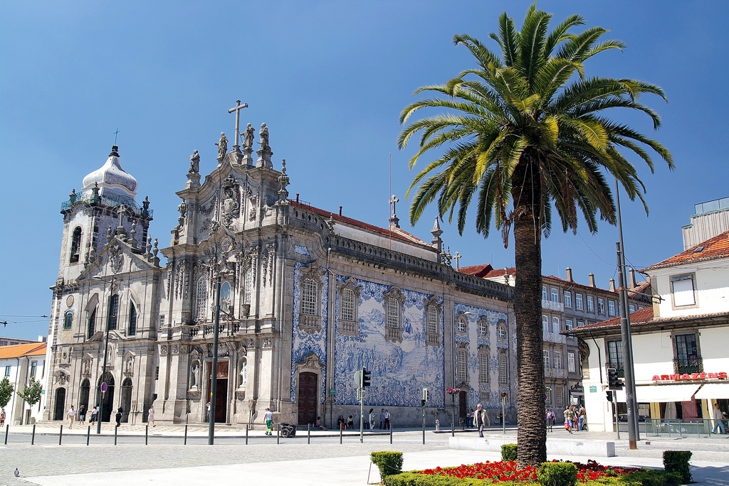
<path id="1" fill-rule="evenodd" d="M 448 437 L 451 449 L 501 452 L 501 446 L 512 444 L 513 437 Z M 615 457 L 615 442 L 593 439 L 547 439 L 548 455 L 582 455 L 596 458 Z"/>

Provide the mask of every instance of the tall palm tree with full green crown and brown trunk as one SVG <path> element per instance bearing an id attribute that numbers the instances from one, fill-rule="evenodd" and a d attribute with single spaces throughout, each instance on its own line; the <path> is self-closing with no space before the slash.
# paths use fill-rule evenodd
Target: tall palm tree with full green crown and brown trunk
<path id="1" fill-rule="evenodd" d="M 476 197 L 476 230 L 487 237 L 491 221 L 508 247 L 514 231 L 516 284 L 514 313 L 518 362 L 518 465 L 546 461 L 544 365 L 542 362 L 541 237 L 549 236 L 553 208 L 563 231 L 577 232 L 578 213 L 590 232 L 598 229 L 596 215 L 615 224 L 615 203 L 607 175 L 614 176 L 631 200 L 640 199 L 647 212 L 645 187 L 623 152 L 643 159 L 650 170 L 655 151 L 673 168 L 671 154 L 660 143 L 625 124 L 609 119 L 609 108 L 631 108 L 660 118 L 639 102 L 644 93 L 666 100 L 663 89 L 633 79 L 585 76 L 584 63 L 621 41 L 599 41 L 607 31 L 588 28 L 579 15 L 567 17 L 549 31 L 552 15 L 526 12 L 521 31 L 504 12 L 499 33 L 491 39 L 501 55 L 465 34 L 456 45 L 469 49 L 477 68 L 467 69 L 447 83 L 421 87 L 435 97 L 418 100 L 400 114 L 408 123 L 421 108 L 445 113 L 410 122 L 399 135 L 405 148 L 421 132 L 419 150 L 410 169 L 424 154 L 437 152 L 413 180 L 417 187 L 410 207 L 415 224 L 426 207 L 437 202 L 441 219 L 456 216 L 459 234 Z M 649 150 L 650 149 L 650 150 Z M 457 210 L 457 211 L 456 211 Z"/>

